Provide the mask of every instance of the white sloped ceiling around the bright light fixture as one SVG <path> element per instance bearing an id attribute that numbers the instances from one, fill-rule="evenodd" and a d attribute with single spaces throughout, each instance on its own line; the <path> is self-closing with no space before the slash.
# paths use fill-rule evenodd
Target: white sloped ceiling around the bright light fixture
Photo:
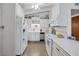
<path id="1" fill-rule="evenodd" d="M 34 8 L 32 8 L 32 5 L 34 3 L 19 3 L 19 4 L 23 8 L 25 14 L 33 14 L 33 13 L 49 11 L 51 7 L 54 6 L 55 3 L 38 3 L 38 6 L 40 8 L 38 10 L 35 10 Z"/>

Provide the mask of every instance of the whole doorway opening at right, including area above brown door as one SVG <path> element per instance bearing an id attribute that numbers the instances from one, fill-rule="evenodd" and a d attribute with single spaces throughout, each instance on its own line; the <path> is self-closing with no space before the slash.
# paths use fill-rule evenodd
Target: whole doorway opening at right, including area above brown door
<path id="1" fill-rule="evenodd" d="M 72 9 L 71 16 L 72 36 L 76 37 L 76 40 L 79 41 L 79 9 Z"/>

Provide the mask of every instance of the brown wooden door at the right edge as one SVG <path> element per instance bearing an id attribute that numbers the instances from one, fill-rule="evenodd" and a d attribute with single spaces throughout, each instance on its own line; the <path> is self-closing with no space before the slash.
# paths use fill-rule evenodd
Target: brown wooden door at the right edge
<path id="1" fill-rule="evenodd" d="M 79 16 L 72 17 L 72 35 L 79 41 Z"/>

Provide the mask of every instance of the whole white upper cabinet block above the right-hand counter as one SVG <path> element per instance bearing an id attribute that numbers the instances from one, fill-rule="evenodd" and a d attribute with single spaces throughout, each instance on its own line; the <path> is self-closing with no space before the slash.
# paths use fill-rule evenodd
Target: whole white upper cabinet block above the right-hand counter
<path id="1" fill-rule="evenodd" d="M 51 9 L 51 26 L 67 26 L 67 9 L 63 4 L 55 4 Z"/>

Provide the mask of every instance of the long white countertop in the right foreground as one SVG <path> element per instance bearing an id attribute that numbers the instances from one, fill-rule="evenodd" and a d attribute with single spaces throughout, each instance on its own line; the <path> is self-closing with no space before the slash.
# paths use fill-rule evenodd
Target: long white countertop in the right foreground
<path id="1" fill-rule="evenodd" d="M 74 40 L 59 39 L 55 35 L 50 34 L 53 41 L 63 48 L 71 56 L 79 56 L 79 42 Z"/>

